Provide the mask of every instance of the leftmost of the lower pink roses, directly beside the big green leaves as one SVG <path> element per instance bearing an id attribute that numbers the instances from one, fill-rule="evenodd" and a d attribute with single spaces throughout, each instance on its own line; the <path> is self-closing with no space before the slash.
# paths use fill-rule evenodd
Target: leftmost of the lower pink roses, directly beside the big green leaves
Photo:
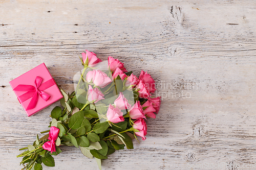
<path id="1" fill-rule="evenodd" d="M 112 122 L 114 124 L 124 121 L 123 112 L 121 112 L 120 109 L 118 109 L 117 107 L 115 108 L 111 104 L 108 109 L 108 112 L 106 113 L 106 117 L 108 118 L 108 120 L 110 122 Z"/>

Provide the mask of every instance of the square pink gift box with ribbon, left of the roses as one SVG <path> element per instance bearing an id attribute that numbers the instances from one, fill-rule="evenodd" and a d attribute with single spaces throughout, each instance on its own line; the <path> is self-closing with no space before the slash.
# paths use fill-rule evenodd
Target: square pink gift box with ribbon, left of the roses
<path id="1" fill-rule="evenodd" d="M 63 98 L 45 63 L 9 83 L 28 116 Z"/>

